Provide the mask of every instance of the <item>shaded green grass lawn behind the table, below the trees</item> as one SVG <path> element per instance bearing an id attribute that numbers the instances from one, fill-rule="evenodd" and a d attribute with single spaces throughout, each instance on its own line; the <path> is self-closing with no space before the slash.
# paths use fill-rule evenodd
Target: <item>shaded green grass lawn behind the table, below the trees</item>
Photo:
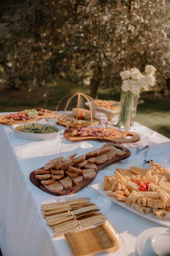
<path id="1" fill-rule="evenodd" d="M 90 93 L 90 88 L 73 84 L 70 81 L 57 80 L 55 87 L 50 87 L 46 97 L 44 88 L 35 89 L 31 92 L 21 91 L 0 91 L 0 112 L 20 111 L 34 107 L 49 108 L 55 110 L 58 102 L 64 96 L 74 93 L 84 92 Z M 120 93 L 111 95 L 104 89 L 99 90 L 99 99 L 120 100 Z M 156 99 L 150 94 L 141 94 L 140 100 L 144 100 L 143 104 L 138 105 L 135 121 L 146 125 L 154 131 L 170 138 L 170 100 L 168 98 Z M 63 102 L 63 110 L 65 102 Z M 73 106 L 70 106 L 72 108 Z"/>

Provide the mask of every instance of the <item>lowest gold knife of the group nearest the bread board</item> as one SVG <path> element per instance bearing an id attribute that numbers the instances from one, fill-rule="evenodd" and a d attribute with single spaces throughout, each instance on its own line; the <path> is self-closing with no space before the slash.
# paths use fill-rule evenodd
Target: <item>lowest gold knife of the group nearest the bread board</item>
<path id="1" fill-rule="evenodd" d="M 59 209 L 56 209 L 56 210 L 52 210 L 52 211 L 45 211 L 43 212 L 42 214 L 45 215 L 45 216 L 50 216 L 50 215 L 53 215 L 53 214 L 57 214 L 57 213 L 61 213 L 61 212 L 69 212 L 69 211 L 72 211 L 72 210 L 76 210 L 76 209 L 79 209 L 79 208 L 83 208 L 83 207 L 86 207 L 86 206 L 92 206 L 92 205 L 95 205 L 93 203 L 80 203 L 80 204 L 70 204 L 70 206 L 68 207 L 63 207 L 63 208 L 59 208 Z"/>

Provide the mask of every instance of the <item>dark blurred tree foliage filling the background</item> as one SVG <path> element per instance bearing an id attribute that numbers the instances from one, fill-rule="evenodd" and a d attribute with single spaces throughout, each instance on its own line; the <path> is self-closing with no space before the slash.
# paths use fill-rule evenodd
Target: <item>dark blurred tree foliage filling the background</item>
<path id="1" fill-rule="evenodd" d="M 169 10 L 165 0 L 2 0 L 1 111 L 10 108 L 13 95 L 15 110 L 25 105 L 28 94 L 29 104 L 51 108 L 76 90 L 116 99 L 120 72 L 133 67 L 144 71 L 150 64 L 157 68 L 157 83 L 151 95 L 142 97 L 149 97 L 152 106 L 152 100 L 159 102 L 155 97 L 164 99 L 165 124 L 170 111 Z M 151 104 L 145 107 L 153 114 Z"/>

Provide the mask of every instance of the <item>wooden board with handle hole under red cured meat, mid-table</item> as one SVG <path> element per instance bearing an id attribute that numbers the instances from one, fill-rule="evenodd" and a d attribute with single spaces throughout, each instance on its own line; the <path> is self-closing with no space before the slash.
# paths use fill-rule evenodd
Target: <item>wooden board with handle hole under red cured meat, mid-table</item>
<path id="1" fill-rule="evenodd" d="M 110 137 L 80 137 L 80 136 L 72 136 L 71 132 L 73 131 L 74 127 L 69 127 L 65 130 L 64 136 L 67 140 L 71 142 L 77 142 L 82 140 L 97 140 L 97 141 L 104 141 L 104 142 L 113 142 L 116 144 L 123 144 L 123 143 L 133 143 L 140 140 L 140 136 L 136 132 L 121 132 L 118 130 L 114 130 L 116 135 Z M 127 136 L 131 136 L 130 139 L 126 139 Z"/>

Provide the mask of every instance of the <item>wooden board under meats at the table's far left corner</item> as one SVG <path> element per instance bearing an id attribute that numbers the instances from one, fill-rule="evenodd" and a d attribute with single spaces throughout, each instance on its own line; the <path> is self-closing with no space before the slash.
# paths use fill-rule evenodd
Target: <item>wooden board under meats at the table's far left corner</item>
<path id="1" fill-rule="evenodd" d="M 23 113 L 25 112 L 24 110 L 23 111 L 19 111 L 18 113 Z M 37 116 L 36 118 L 31 118 L 27 121 L 24 121 L 24 120 L 13 120 L 12 122 L 9 122 L 9 120 L 6 118 L 6 116 L 9 116 L 9 115 L 3 115 L 3 116 L 0 116 L 0 123 L 1 124 L 5 124 L 5 125 L 12 125 L 12 124 L 22 124 L 22 123 L 35 123 L 36 121 L 40 120 L 40 119 L 43 119 L 43 118 L 54 118 L 55 117 L 55 112 L 54 111 L 51 111 L 51 110 L 48 110 L 46 109 L 46 113 L 42 116 Z"/>

